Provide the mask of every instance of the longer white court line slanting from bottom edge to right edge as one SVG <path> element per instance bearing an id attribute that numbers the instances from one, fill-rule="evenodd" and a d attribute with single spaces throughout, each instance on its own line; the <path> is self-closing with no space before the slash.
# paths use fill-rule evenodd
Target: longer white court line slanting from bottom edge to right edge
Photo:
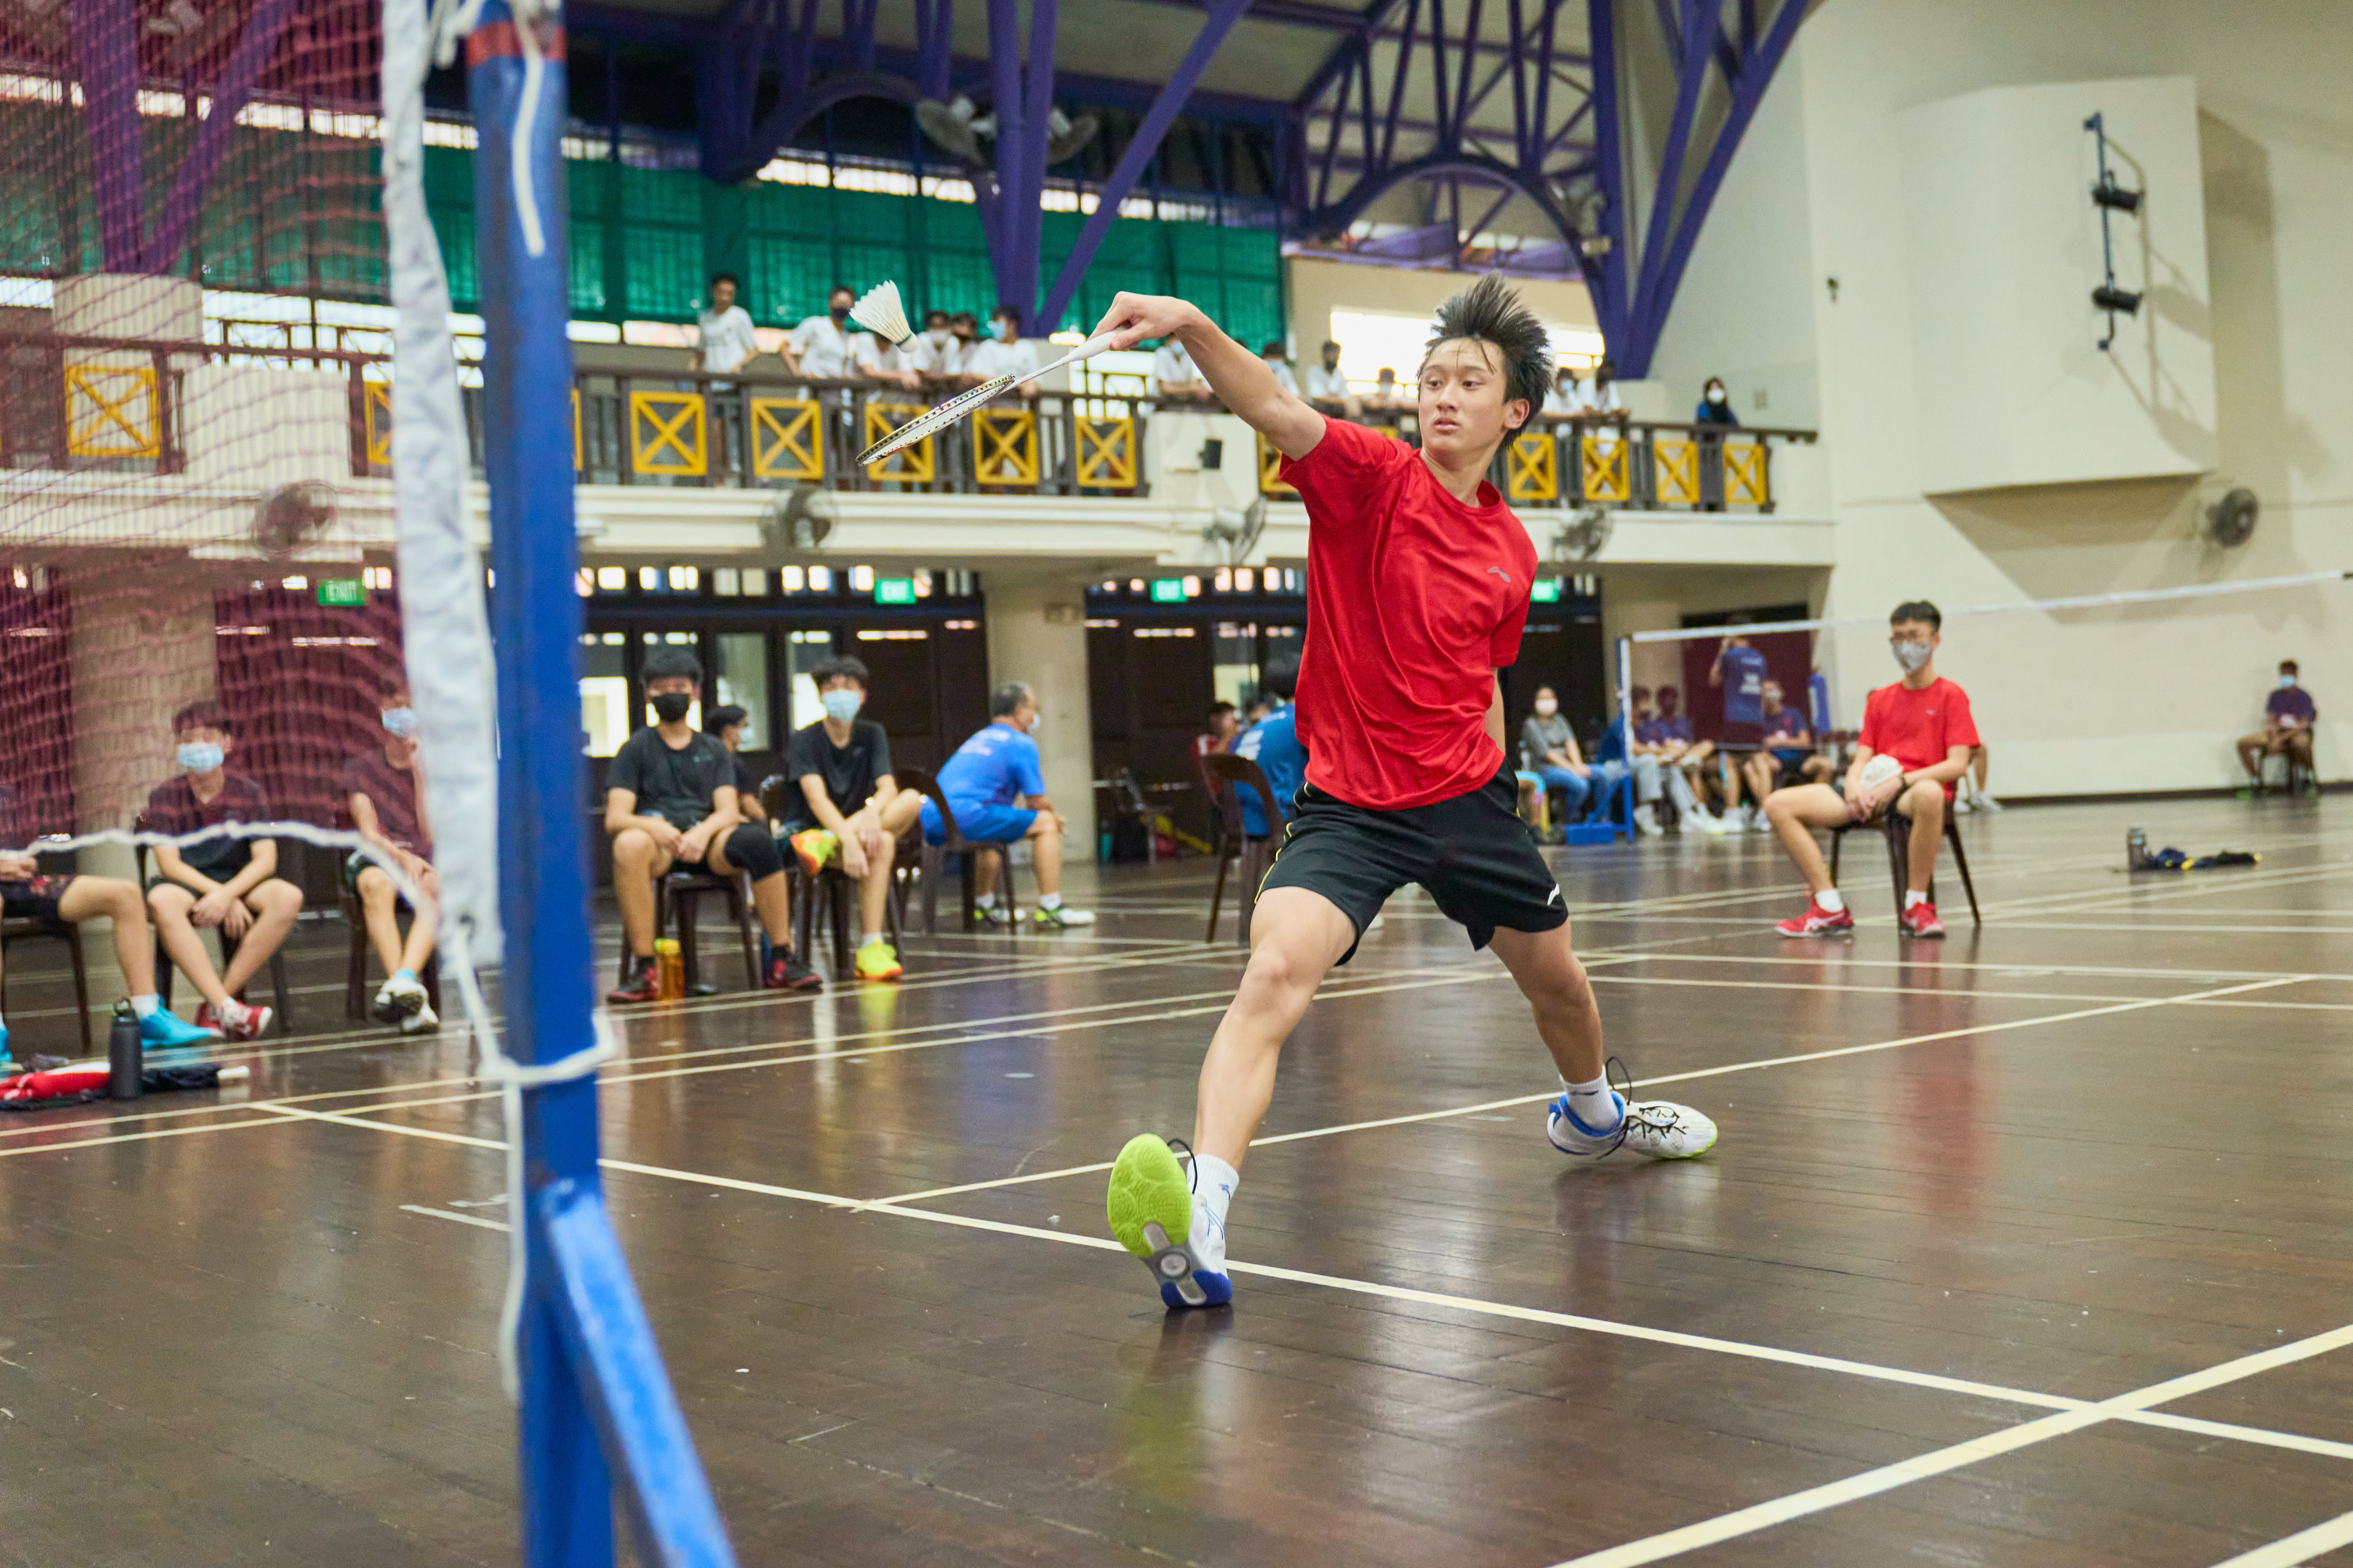
<path id="1" fill-rule="evenodd" d="M 1941 1476 L 1965 1465 L 1977 1465 L 1979 1460 L 1993 1460 L 2005 1453 L 2017 1453 L 2019 1448 L 2033 1448 L 2035 1443 L 2047 1443 L 2054 1436 L 2068 1436 L 2071 1432 L 2082 1432 L 2085 1427 L 2097 1427 L 2106 1420 L 2129 1420 L 2137 1413 L 2151 1410 L 2151 1406 L 2202 1394 L 2205 1389 L 2238 1382 L 2240 1378 L 2254 1378 L 2257 1373 L 2268 1373 L 2294 1361 L 2306 1361 L 2344 1345 L 2353 1345 L 2353 1326 L 2315 1333 L 2306 1340 L 2297 1340 L 2294 1345 L 2275 1345 L 2273 1349 L 2261 1349 L 2252 1356 L 2238 1356 L 2235 1361 L 2209 1366 L 2202 1373 L 2167 1378 L 2165 1382 L 2153 1382 L 2146 1389 L 2118 1394 L 2115 1399 L 2101 1399 L 2082 1410 L 2042 1415 L 2040 1420 L 2009 1427 L 2007 1432 L 1988 1432 L 1986 1436 L 1969 1439 L 1967 1443 L 1953 1443 L 1951 1448 L 1937 1448 L 1908 1460 L 1897 1460 L 1894 1465 L 1866 1469 L 1864 1474 L 1847 1476 L 1845 1481 L 1831 1481 L 1828 1486 L 1814 1486 L 1769 1502 L 1755 1502 L 1729 1514 L 1718 1514 L 1715 1519 L 1687 1523 L 1680 1530 L 1666 1530 L 1645 1540 L 1631 1540 L 1621 1547 L 1588 1552 L 1565 1563 L 1555 1563 L 1555 1568 L 1635 1568 L 1635 1563 L 1657 1563 L 1668 1556 L 1682 1556 L 1685 1552 L 1699 1552 L 1701 1547 L 1715 1547 L 1739 1535 L 1753 1535 L 1755 1530 L 1767 1530 L 1777 1523 L 1788 1523 L 1791 1519 L 1805 1519 L 1807 1514 L 1819 1514 L 1824 1509 L 1840 1507 L 1842 1502 L 1857 1502 L 1899 1486 L 1911 1486 L 1913 1481 L 1927 1481 L 1929 1476 Z"/>

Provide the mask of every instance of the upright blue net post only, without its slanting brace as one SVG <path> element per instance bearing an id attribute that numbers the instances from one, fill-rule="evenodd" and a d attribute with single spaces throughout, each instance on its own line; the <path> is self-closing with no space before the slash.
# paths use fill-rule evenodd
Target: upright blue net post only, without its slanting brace
<path id="1" fill-rule="evenodd" d="M 572 590 L 572 343 L 567 327 L 560 54 L 539 66 L 539 103 L 522 148 L 525 59 L 506 0 L 482 7 L 466 45 L 475 153 L 487 367 L 482 378 L 489 480 L 492 628 L 499 649 L 499 900 L 506 926 L 506 1048 L 546 1063 L 591 1039 L 588 865 L 579 823 L 588 778 L 579 748 L 579 597 Z M 515 209 L 513 158 L 527 158 L 544 212 L 529 254 Z M 539 825 L 548 830 L 541 832 Z M 522 1093 L 522 1152 L 534 1190 L 598 1187 L 595 1079 Z M 534 1204 L 529 1229 L 544 1229 Z M 609 1568 L 612 1472 L 565 1356 L 551 1251 L 534 1234 L 520 1326 L 522 1561 L 529 1568 Z"/>

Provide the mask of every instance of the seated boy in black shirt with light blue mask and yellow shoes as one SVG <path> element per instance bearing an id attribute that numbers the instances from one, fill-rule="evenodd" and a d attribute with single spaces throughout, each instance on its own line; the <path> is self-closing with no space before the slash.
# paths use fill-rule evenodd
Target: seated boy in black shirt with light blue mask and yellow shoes
<path id="1" fill-rule="evenodd" d="M 861 719 L 866 705 L 866 665 L 856 658 L 828 658 L 809 672 L 826 717 L 795 729 L 786 745 L 784 776 L 798 799 L 786 795 L 788 823 L 776 827 L 793 842 L 800 870 L 814 882 L 826 865 L 859 884 L 859 954 L 861 980 L 896 980 L 899 950 L 889 945 L 882 922 L 889 912 L 892 856 L 899 835 L 915 823 L 920 795 L 899 788 L 889 776 L 889 736 L 873 719 Z"/>

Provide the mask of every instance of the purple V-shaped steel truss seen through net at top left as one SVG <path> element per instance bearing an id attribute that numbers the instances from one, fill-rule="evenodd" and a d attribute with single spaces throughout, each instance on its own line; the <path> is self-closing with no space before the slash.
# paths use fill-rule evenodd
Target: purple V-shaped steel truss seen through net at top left
<path id="1" fill-rule="evenodd" d="M 73 56 L 82 85 L 82 125 L 89 134 L 92 188 L 99 207 L 99 252 L 108 273 L 167 273 L 195 230 L 205 186 L 228 153 L 238 115 L 285 35 L 294 0 L 259 0 L 238 47 L 209 85 L 212 108 L 172 174 L 172 188 L 146 226 L 146 167 L 139 150 L 139 14 L 132 0 L 73 0 Z M 181 82 L 198 92 L 195 80 Z"/>

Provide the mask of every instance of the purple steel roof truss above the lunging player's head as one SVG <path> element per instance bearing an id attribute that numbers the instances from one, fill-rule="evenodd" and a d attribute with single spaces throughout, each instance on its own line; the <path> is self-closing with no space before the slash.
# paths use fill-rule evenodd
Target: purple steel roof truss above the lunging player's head
<path id="1" fill-rule="evenodd" d="M 1341 254 L 1447 266 L 1525 200 L 1551 237 L 1492 254 L 1487 266 L 1581 275 L 1617 371 L 1645 376 L 1708 207 L 1807 0 L 1737 0 L 1737 16 L 1727 0 L 1586 0 L 1584 54 L 1560 42 L 1569 0 L 1501 0 L 1501 40 L 1482 31 L 1492 5 L 1367 0 L 1292 103 L 1285 230 L 1337 240 L 1377 200 L 1419 181 L 1428 190 L 1421 226 Z M 1657 35 L 1633 42 L 1628 21 L 1645 7 Z M 1633 49 L 1647 47 L 1666 54 L 1675 82 L 1666 125 L 1649 127 L 1649 169 L 1633 155 L 1642 139 L 1628 134 L 1624 89 Z M 1407 115 L 1409 101 L 1426 103 L 1428 118 Z M 1711 127 L 1706 139 L 1701 127 Z M 1635 195 L 1647 212 L 1640 235 L 1628 221 Z"/>

